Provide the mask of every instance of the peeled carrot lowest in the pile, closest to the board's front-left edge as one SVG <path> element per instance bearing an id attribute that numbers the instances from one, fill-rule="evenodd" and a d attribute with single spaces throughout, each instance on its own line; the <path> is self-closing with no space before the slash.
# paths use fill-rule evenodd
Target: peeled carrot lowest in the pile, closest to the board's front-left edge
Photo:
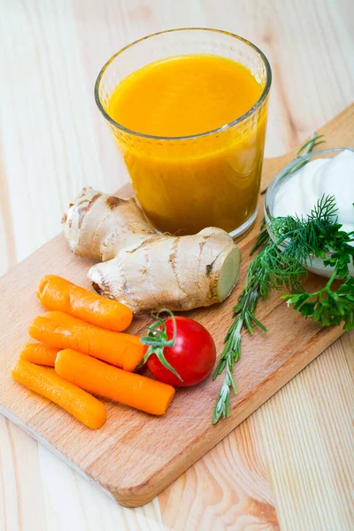
<path id="1" fill-rule="evenodd" d="M 12 378 L 60 405 L 85 426 L 97 429 L 105 422 L 104 404 L 73 383 L 63 380 L 48 367 L 19 359 L 12 369 Z"/>

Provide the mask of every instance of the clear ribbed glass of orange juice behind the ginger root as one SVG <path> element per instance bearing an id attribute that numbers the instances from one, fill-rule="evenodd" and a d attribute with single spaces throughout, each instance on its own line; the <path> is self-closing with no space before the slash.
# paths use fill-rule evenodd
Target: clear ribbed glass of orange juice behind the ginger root
<path id="1" fill-rule="evenodd" d="M 272 73 L 257 46 L 204 28 L 149 35 L 102 68 L 96 104 L 151 224 L 173 235 L 257 215 Z"/>

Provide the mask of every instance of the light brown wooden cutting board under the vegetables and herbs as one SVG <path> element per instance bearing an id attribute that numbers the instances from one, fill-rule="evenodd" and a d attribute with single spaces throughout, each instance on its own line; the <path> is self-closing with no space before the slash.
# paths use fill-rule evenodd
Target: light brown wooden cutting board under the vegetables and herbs
<path id="1" fill-rule="evenodd" d="M 353 146 L 354 104 L 319 132 L 326 135 L 328 148 Z M 263 186 L 295 152 L 265 161 Z M 122 196 L 129 193 L 125 189 Z M 231 324 L 232 306 L 242 290 L 250 247 L 262 215 L 260 205 L 256 227 L 240 242 L 242 274 L 234 293 L 223 304 L 189 312 L 190 317 L 210 330 L 218 352 Z M 106 401 L 107 422 L 100 430 L 92 431 L 11 378 L 14 361 L 28 340 L 28 324 L 43 312 L 35 297 L 42 275 L 55 273 L 89 288 L 86 273 L 91 265 L 89 260 L 74 257 L 64 236 L 58 235 L 0 279 L 0 412 L 128 507 L 145 504 L 157 496 L 342 335 L 340 327 L 321 329 L 302 319 L 275 293 L 258 305 L 258 319 L 266 324 L 269 333 L 257 330 L 253 337 L 243 337 L 242 358 L 235 366 L 238 395 L 232 396 L 229 418 L 212 426 L 219 377 L 195 388 L 178 390 L 162 418 Z M 312 276 L 308 285 L 314 290 L 322 282 Z M 131 331 L 141 335 L 147 321 L 145 317 L 135 319 Z"/>

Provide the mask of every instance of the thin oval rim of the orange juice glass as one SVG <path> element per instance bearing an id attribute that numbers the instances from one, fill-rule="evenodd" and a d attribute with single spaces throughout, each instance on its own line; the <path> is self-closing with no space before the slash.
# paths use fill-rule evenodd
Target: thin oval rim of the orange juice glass
<path id="1" fill-rule="evenodd" d="M 224 124 L 221 127 L 217 127 L 216 129 L 212 129 L 210 131 L 205 131 L 204 133 L 198 133 L 197 135 L 184 135 L 184 136 L 146 135 L 144 133 L 139 133 L 138 131 L 133 131 L 132 129 L 129 129 L 127 127 L 122 126 L 121 124 L 116 122 L 114 119 L 112 119 L 112 117 L 108 114 L 108 112 L 105 111 L 104 106 L 103 106 L 103 104 L 101 102 L 101 98 L 99 96 L 99 88 L 100 88 L 101 81 L 102 81 L 102 79 L 104 77 L 104 73 L 105 73 L 106 69 L 108 68 L 109 65 L 111 65 L 112 61 L 115 58 L 119 57 L 119 55 L 121 55 L 124 51 L 128 50 L 129 48 L 132 48 L 132 46 L 134 46 L 135 44 L 139 44 L 142 41 L 146 41 L 146 39 L 150 39 L 151 37 L 156 37 L 158 35 L 165 35 L 165 34 L 169 34 L 169 33 L 173 33 L 173 32 L 181 32 L 181 31 L 207 31 L 207 32 L 213 32 L 213 33 L 219 33 L 219 34 L 223 34 L 223 35 L 228 35 L 230 37 L 234 37 L 236 40 L 242 41 L 245 44 L 247 44 L 248 46 L 250 46 L 250 48 L 252 48 L 254 51 L 256 51 L 256 53 L 258 53 L 258 56 L 262 59 L 263 64 L 266 67 L 266 84 L 265 84 L 265 87 L 264 87 L 264 89 L 262 91 L 262 94 L 258 97 L 257 102 L 254 105 L 252 105 L 252 107 L 250 107 L 250 109 L 247 112 L 244 112 L 242 114 L 242 116 L 240 116 L 237 119 L 234 119 L 234 120 L 228 122 L 227 124 Z M 266 58 L 266 55 L 263 53 L 263 51 L 260 50 L 258 48 L 258 46 L 256 46 L 256 44 L 253 44 L 253 42 L 250 42 L 247 39 L 244 39 L 240 35 L 235 35 L 233 33 L 230 33 L 228 31 L 224 31 L 224 30 L 221 30 L 221 29 L 214 29 L 212 27 L 176 27 L 176 28 L 173 28 L 173 29 L 166 29 L 165 31 L 160 31 L 160 32 L 157 32 L 157 33 L 154 33 L 154 34 L 150 34 L 150 35 L 147 35 L 147 36 L 142 37 L 140 39 L 137 39 L 134 42 L 130 42 L 129 44 L 127 44 L 127 46 L 125 46 L 121 50 L 117 51 L 111 58 L 109 58 L 108 61 L 104 64 L 104 66 L 101 68 L 101 70 L 98 73 L 98 76 L 96 78 L 95 100 L 96 100 L 96 105 L 97 105 L 99 111 L 104 116 L 104 119 L 106 119 L 112 126 L 117 127 L 118 129 L 120 129 L 124 133 L 127 133 L 128 135 L 139 136 L 140 138 L 146 138 L 146 139 L 149 139 L 149 140 L 181 141 L 181 140 L 191 140 L 191 139 L 202 138 L 202 137 L 208 136 L 208 135 L 215 135 L 216 133 L 222 133 L 223 131 L 226 131 L 230 127 L 234 127 L 235 125 L 237 125 L 237 124 L 241 123 L 242 121 L 244 121 L 245 119 L 249 118 L 249 116 L 251 116 L 254 112 L 256 112 L 258 110 L 258 108 L 266 101 L 266 97 L 269 94 L 269 90 L 271 88 L 271 84 L 272 84 L 272 69 L 271 69 L 271 65 L 269 64 L 269 61 Z"/>

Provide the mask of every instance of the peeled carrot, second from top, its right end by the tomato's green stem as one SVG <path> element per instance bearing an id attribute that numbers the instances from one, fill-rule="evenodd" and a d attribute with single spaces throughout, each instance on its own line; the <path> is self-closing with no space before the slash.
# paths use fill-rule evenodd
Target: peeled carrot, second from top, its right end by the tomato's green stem
<path id="1" fill-rule="evenodd" d="M 50 312 L 50 315 L 53 314 L 58 315 L 60 312 Z M 63 316 L 61 316 L 62 322 L 38 316 L 29 327 L 29 335 L 50 347 L 79 350 L 119 366 L 125 371 L 134 371 L 142 361 L 146 350 L 142 343 L 130 341 L 127 335 L 119 332 L 104 330 L 72 316 L 69 317 L 71 322 Z M 73 319 L 76 321 L 75 324 L 72 324 Z"/>

